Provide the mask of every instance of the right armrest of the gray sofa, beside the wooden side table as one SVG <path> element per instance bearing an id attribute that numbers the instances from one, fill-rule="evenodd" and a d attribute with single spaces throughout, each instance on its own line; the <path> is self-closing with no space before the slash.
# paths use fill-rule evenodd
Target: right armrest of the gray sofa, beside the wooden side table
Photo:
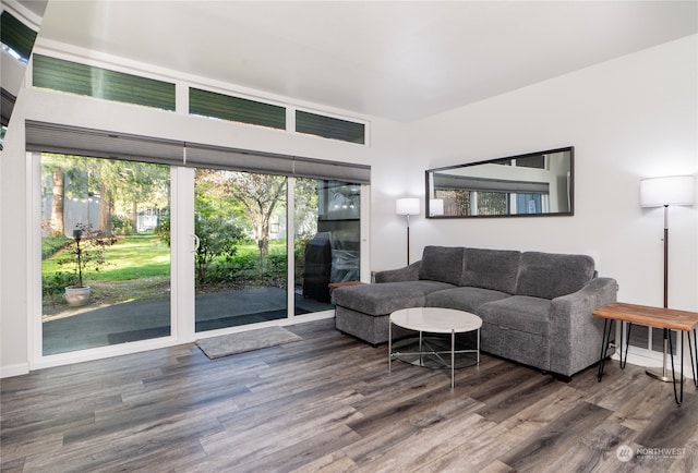
<path id="1" fill-rule="evenodd" d="M 555 298 L 550 313 L 551 372 L 571 376 L 599 361 L 603 319 L 594 308 L 616 302 L 618 283 L 594 278 L 579 291 Z"/>

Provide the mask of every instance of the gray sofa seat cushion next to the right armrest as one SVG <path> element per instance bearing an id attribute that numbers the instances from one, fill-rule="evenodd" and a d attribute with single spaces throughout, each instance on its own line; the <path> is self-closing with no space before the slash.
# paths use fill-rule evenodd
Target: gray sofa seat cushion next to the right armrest
<path id="1" fill-rule="evenodd" d="M 547 336 L 551 304 L 550 299 L 513 295 L 482 304 L 478 315 L 498 327 Z"/>

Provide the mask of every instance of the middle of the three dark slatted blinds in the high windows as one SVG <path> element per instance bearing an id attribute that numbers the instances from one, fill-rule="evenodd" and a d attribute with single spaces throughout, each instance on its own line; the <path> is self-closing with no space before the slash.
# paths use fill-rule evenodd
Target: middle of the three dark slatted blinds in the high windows
<path id="1" fill-rule="evenodd" d="M 190 87 L 189 113 L 286 130 L 286 107 Z"/>

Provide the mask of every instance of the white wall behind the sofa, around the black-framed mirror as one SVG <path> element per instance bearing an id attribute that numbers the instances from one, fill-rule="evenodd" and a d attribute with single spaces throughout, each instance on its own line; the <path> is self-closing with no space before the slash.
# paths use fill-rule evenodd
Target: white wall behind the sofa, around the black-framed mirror
<path id="1" fill-rule="evenodd" d="M 401 179 L 409 162 L 404 192 L 413 195 L 423 196 L 428 168 L 569 145 L 576 154 L 575 216 L 433 220 L 422 207 L 412 219 L 412 254 L 428 244 L 586 253 L 602 276 L 618 280 L 619 300 L 661 306 L 662 208 L 639 207 L 639 180 L 698 172 L 697 38 L 408 125 L 409 161 L 386 167 Z M 374 187 L 396 183 L 387 173 L 373 180 Z M 387 214 L 382 204 L 374 202 L 376 214 Z M 698 311 L 698 204 L 670 213 L 670 306 Z M 404 225 L 388 225 L 374 231 L 382 235 L 373 241 L 377 268 L 401 263 L 380 251 L 405 238 Z"/>

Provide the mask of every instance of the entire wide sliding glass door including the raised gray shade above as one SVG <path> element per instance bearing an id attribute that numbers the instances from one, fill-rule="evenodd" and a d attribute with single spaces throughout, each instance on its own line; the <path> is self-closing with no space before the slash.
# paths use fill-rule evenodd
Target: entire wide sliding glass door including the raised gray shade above
<path id="1" fill-rule="evenodd" d="M 360 279 L 365 166 L 45 123 L 27 149 L 35 362 L 328 313 Z"/>

